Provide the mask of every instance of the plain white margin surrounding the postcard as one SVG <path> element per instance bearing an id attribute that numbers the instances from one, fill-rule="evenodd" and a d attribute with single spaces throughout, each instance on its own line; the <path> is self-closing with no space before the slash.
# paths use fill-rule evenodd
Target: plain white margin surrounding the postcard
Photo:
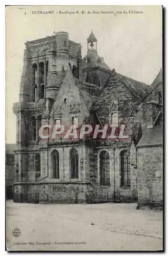
<path id="1" fill-rule="evenodd" d="M 47 2 L 44 1 L 44 0 L 41 0 L 41 1 L 36 1 L 36 0 L 29 0 L 29 1 L 13 1 L 13 0 L 10 0 L 10 1 L 1 1 L 0 3 L 0 18 L 1 18 L 1 22 L 0 22 L 0 25 L 1 25 L 1 100 L 0 100 L 0 104 L 1 104 L 1 121 L 2 121 L 2 124 L 1 124 L 1 143 L 0 143 L 0 146 L 1 146 L 1 244 L 0 244 L 0 251 L 1 251 L 1 255 L 5 255 L 7 252 L 5 252 L 5 65 L 4 65 L 4 60 L 5 60 L 5 5 L 69 5 L 69 3 L 71 5 L 163 5 L 163 7 L 165 7 L 167 9 L 167 6 L 168 6 L 168 2 L 167 0 L 164 0 L 164 1 L 160 1 L 160 0 L 153 0 L 153 1 L 149 1 L 149 0 L 141 0 L 141 1 L 135 1 L 135 0 L 132 0 L 132 1 L 123 1 L 123 0 L 117 0 L 117 1 L 107 1 L 107 0 L 104 0 L 103 2 L 102 1 L 88 1 L 88 0 L 85 0 L 85 1 L 74 1 L 74 0 L 71 0 L 70 2 L 69 1 L 51 1 L 51 0 L 48 0 Z M 166 14 L 167 14 L 167 10 L 165 11 Z M 164 24 L 164 27 L 165 27 L 165 30 L 164 33 L 167 32 L 167 17 L 165 17 L 165 24 Z M 165 35 L 165 41 L 166 41 L 166 35 Z M 165 44 L 165 42 L 164 42 Z M 166 47 L 166 44 L 165 44 L 165 47 Z M 165 61 L 167 59 L 167 51 L 166 51 L 166 56 L 165 56 Z M 167 73 L 167 66 L 164 67 L 164 77 L 165 77 L 165 81 L 164 81 L 164 94 L 166 94 L 167 90 L 166 90 L 166 73 Z M 166 98 L 167 98 L 167 94 L 166 96 L 164 97 L 164 100 L 166 102 Z M 166 118 L 166 115 L 165 113 L 166 110 L 167 110 L 167 104 L 164 105 L 164 116 Z M 165 119 L 165 126 L 167 124 L 167 118 Z M 167 127 L 167 126 L 166 126 Z M 164 137 L 164 144 L 165 144 L 165 141 L 167 142 L 167 138 L 166 136 Z M 167 144 L 167 143 L 166 143 Z M 166 148 L 165 148 L 165 159 L 167 159 L 167 153 L 168 151 L 166 151 Z M 166 163 L 165 163 L 166 164 Z M 166 184 L 167 184 L 167 177 L 168 175 L 166 175 L 166 167 L 164 168 L 164 187 L 166 189 Z M 2 189 L 3 187 L 3 189 Z M 166 200 L 166 190 L 164 191 L 164 200 Z M 164 201 L 164 203 L 166 203 Z M 165 213 L 166 213 L 166 209 L 165 210 Z M 164 224 L 166 224 L 166 222 L 164 222 Z M 167 227 L 167 226 L 166 226 Z M 166 229 L 167 230 L 167 229 Z M 165 231 L 166 231 L 165 230 Z M 164 234 L 165 235 L 165 234 Z M 166 246 L 167 244 L 167 235 L 165 237 L 165 240 L 164 240 L 164 246 Z M 23 252 L 23 254 L 26 254 Z M 33 255 L 35 255 L 35 253 L 32 253 Z M 48 254 L 48 253 L 47 253 Z M 59 252 L 57 252 L 57 254 L 59 254 Z M 61 253 L 62 254 L 62 253 Z M 75 253 L 76 254 L 76 253 Z M 146 253 L 145 253 L 146 254 Z M 15 253 L 15 255 L 19 255 L 19 253 Z"/>

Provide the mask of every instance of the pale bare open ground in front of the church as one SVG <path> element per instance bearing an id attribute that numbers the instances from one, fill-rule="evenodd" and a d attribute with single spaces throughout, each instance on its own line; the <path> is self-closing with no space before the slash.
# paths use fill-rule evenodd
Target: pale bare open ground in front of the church
<path id="1" fill-rule="evenodd" d="M 136 210 L 134 203 L 7 201 L 7 242 L 9 250 L 162 250 L 162 212 Z"/>

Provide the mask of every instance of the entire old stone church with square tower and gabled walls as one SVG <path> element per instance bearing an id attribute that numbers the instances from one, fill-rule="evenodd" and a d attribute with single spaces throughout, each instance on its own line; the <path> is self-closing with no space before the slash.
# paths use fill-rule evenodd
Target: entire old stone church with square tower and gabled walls
<path id="1" fill-rule="evenodd" d="M 81 44 L 66 32 L 25 45 L 13 105 L 14 201 L 162 205 L 162 70 L 151 86 L 111 70 L 92 31 L 84 58 Z M 99 130 L 97 138 L 42 140 L 39 129 L 46 124 L 78 131 L 107 125 L 115 139 Z"/>

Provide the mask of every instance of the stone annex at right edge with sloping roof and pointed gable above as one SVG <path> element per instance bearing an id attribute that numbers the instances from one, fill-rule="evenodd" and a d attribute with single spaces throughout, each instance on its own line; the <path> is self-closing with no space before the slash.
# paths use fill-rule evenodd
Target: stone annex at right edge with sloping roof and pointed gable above
<path id="1" fill-rule="evenodd" d="M 162 70 L 160 70 L 147 93 L 148 125 L 136 146 L 139 206 L 163 206 L 162 95 Z"/>

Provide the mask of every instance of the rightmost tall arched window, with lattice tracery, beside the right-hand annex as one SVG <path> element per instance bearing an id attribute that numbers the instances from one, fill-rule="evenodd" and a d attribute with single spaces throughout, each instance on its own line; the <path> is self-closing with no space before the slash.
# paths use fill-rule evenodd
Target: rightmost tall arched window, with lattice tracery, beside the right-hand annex
<path id="1" fill-rule="evenodd" d="M 121 153 L 121 186 L 131 186 L 130 157 L 127 151 Z"/>

